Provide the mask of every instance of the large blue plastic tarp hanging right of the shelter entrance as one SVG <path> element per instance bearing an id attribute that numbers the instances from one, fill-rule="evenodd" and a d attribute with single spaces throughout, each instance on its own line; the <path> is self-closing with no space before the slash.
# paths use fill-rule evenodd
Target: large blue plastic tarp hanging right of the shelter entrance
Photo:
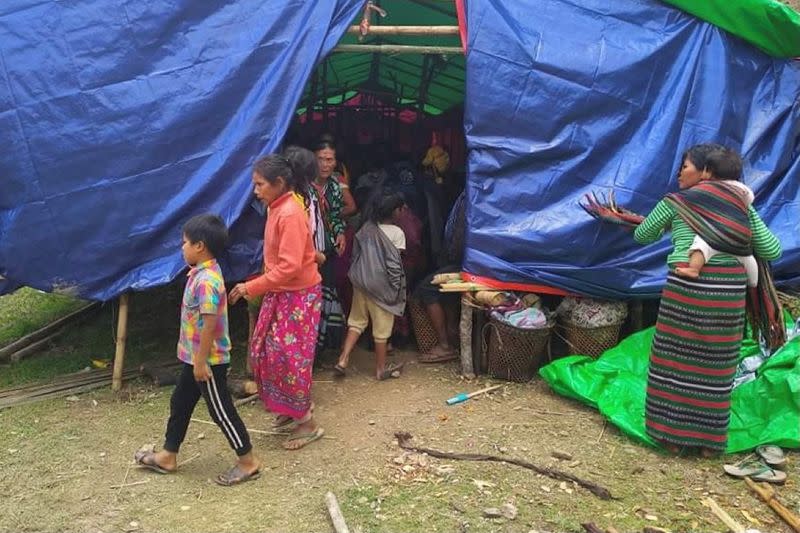
<path id="1" fill-rule="evenodd" d="M 646 214 L 698 142 L 740 150 L 755 207 L 800 281 L 800 65 L 657 1 L 467 3 L 465 270 L 619 298 L 655 296 L 668 239 L 637 246 L 586 215 L 590 191 Z"/>

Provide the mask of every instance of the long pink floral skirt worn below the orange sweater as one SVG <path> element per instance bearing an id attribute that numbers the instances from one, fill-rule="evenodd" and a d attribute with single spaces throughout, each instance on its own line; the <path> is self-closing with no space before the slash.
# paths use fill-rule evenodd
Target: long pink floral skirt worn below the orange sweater
<path id="1" fill-rule="evenodd" d="M 264 295 L 250 359 L 261 400 L 273 413 L 302 418 L 311 407 L 321 309 L 320 285 Z"/>

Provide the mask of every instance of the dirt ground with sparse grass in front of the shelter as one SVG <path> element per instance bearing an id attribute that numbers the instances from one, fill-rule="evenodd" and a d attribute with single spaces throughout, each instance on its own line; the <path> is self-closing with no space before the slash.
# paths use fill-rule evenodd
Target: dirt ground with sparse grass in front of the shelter
<path id="1" fill-rule="evenodd" d="M 465 382 L 454 364 L 422 366 L 411 352 L 397 357 L 410 363 L 388 382 L 370 377 L 363 351 L 343 381 L 319 371 L 315 402 L 327 438 L 287 452 L 281 437 L 253 435 L 264 474 L 233 488 L 212 482 L 233 459 L 212 425 L 191 425 L 178 474 L 133 465 L 141 445 L 161 445 L 169 388 L 134 382 L 120 395 L 102 391 L 0 411 L 0 531 L 333 531 L 324 505 L 329 490 L 351 530 L 365 532 L 582 531 L 587 521 L 618 531 L 724 531 L 701 504 L 707 496 L 747 527 L 789 531 L 743 482 L 723 474 L 723 460 L 675 459 L 639 446 L 541 380 L 504 383 L 491 396 L 448 407 L 446 398 L 488 380 Z M 241 412 L 251 429 L 269 427 L 259 405 Z M 195 417 L 209 420 L 202 406 Z M 398 430 L 430 448 L 556 467 L 618 499 L 603 501 L 517 466 L 404 452 L 393 437 Z M 554 451 L 572 459 L 554 459 Z M 780 494 L 800 511 L 796 463 L 790 457 Z M 506 503 L 518 509 L 514 519 L 483 516 Z"/>

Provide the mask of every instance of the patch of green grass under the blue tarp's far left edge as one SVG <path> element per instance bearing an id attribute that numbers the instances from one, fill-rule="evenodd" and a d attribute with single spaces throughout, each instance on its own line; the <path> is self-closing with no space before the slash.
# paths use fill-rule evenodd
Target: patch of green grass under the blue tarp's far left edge
<path id="1" fill-rule="evenodd" d="M 0 296 L 0 346 L 5 346 L 86 305 L 63 294 L 24 287 Z"/>

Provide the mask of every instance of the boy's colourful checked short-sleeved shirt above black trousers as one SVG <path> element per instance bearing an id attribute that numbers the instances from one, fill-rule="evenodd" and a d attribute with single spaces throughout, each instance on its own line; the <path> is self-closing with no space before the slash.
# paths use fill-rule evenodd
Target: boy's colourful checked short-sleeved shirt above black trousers
<path id="1" fill-rule="evenodd" d="M 230 363 L 228 299 L 225 294 L 225 280 L 215 259 L 195 265 L 189 270 L 186 289 L 183 291 L 178 359 L 190 365 L 194 364 L 194 355 L 200 349 L 203 315 L 217 315 L 217 327 L 208 354 L 208 364 Z"/>

